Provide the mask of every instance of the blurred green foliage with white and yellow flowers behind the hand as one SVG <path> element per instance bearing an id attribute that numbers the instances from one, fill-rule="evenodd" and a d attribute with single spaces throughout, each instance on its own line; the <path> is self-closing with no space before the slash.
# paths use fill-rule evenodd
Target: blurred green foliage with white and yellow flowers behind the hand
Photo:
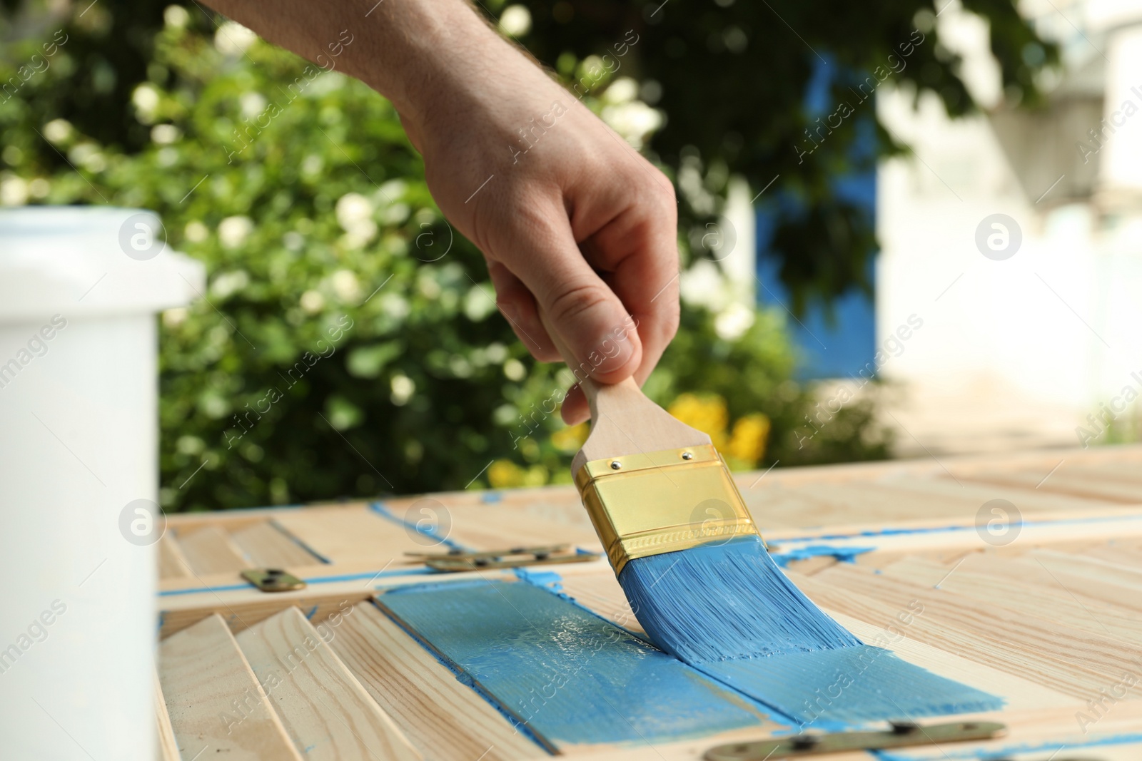
<path id="1" fill-rule="evenodd" d="M 572 18 L 590 17 L 593 6 L 571 5 Z M 130 15 L 136 7 L 146 13 Z M 153 209 L 168 242 L 207 265 L 206 298 L 162 317 L 164 507 L 566 480 L 581 431 L 563 429 L 548 411 L 569 375 L 533 363 L 494 314 L 482 257 L 441 217 L 391 105 L 240 29 L 216 30 L 196 7 L 158 8 L 105 2 L 69 18 L 40 16 L 40 29 L 25 24 L 26 39 L 6 47 L 0 79 L 19 83 L 0 96 L 0 201 Z M 554 11 L 532 8 L 529 46 L 541 56 L 560 50 L 555 65 L 568 82 L 594 78 L 589 46 L 612 44 L 609 26 L 580 30 L 576 46 L 564 46 L 544 31 L 541 13 Z M 645 31 L 641 13 L 628 16 Z M 66 41 L 45 58 L 57 29 Z M 617 73 L 661 76 L 662 91 L 678 87 L 682 97 L 685 80 L 654 68 L 660 43 L 641 38 L 625 57 L 630 68 Z M 581 54 L 580 44 L 588 46 Z M 771 84 L 803 94 L 804 51 L 785 50 L 785 73 Z M 35 55 L 48 63 L 29 73 Z M 645 103 L 614 95 L 637 82 L 593 81 L 588 106 L 645 115 Z M 670 103 L 681 102 L 662 102 L 666 127 L 644 126 L 640 136 L 679 186 L 689 265 L 703 253 L 691 246 L 699 249 L 703 222 L 722 210 L 731 169 L 753 176 L 765 159 L 756 146 L 756 164 L 719 153 L 705 128 L 691 138 L 701 148 L 683 145 L 676 126 L 692 115 L 675 112 L 702 106 Z M 772 116 L 755 114 L 751 123 L 797 119 Z M 737 129 L 713 111 L 709 119 Z M 759 135 L 739 151 L 754 143 L 778 151 L 779 137 Z M 860 260 L 871 250 L 870 238 L 845 240 L 829 256 Z M 818 292 L 854 282 L 845 276 Z M 798 436 L 814 398 L 791 380 L 795 365 L 781 314 L 686 305 L 678 339 L 646 388 L 671 410 L 714 411 L 738 467 L 886 456 L 871 398 L 846 406 L 811 440 Z"/>

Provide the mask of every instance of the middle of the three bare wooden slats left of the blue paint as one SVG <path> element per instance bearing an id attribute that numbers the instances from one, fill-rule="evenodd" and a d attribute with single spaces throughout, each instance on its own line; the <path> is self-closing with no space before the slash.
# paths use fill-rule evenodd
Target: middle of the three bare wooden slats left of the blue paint
<path id="1" fill-rule="evenodd" d="M 247 629 L 238 643 L 306 759 L 413 761 L 420 754 L 297 608 Z"/>

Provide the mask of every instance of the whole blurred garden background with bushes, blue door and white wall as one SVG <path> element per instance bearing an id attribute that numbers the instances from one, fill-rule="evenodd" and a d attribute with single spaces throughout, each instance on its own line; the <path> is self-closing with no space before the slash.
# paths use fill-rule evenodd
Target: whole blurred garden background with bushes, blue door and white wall
<path id="1" fill-rule="evenodd" d="M 167 511 L 570 480 L 570 375 L 336 55 L 0 5 L 0 203 L 150 209 L 206 267 L 159 318 Z M 735 469 L 1137 440 L 1142 1 L 476 5 L 675 183 L 646 390 Z"/>

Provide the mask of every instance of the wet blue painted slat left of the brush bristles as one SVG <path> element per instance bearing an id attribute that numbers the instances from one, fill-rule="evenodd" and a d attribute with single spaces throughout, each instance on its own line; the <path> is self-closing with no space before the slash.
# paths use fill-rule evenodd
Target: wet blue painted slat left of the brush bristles
<path id="1" fill-rule="evenodd" d="M 552 744 L 645 743 L 756 726 L 754 704 L 539 586 L 403 586 L 377 602 Z"/>

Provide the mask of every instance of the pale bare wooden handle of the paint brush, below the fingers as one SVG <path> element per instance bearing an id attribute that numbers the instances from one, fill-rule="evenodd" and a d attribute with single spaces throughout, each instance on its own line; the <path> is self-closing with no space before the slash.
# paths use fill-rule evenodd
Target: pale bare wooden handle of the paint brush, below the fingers
<path id="1" fill-rule="evenodd" d="M 563 361 L 571 367 L 578 367 L 574 354 L 568 349 L 542 309 L 539 310 L 539 318 Z M 572 473 L 592 460 L 710 443 L 709 436 L 679 422 L 646 398 L 634 378 L 618 383 L 600 383 L 586 378 L 579 386 L 590 405 L 592 426 L 590 435 L 571 462 Z"/>

